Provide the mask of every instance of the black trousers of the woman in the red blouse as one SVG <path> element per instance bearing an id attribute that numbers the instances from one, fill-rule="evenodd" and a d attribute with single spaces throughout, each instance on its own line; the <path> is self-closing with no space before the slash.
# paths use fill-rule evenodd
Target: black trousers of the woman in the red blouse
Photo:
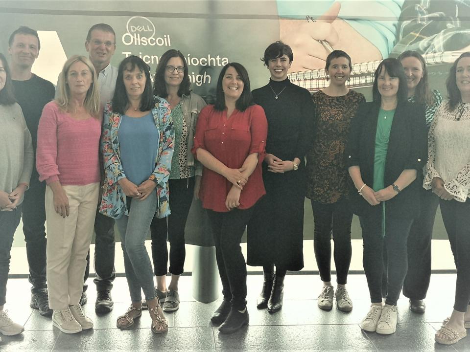
<path id="1" fill-rule="evenodd" d="M 224 301 L 231 301 L 234 310 L 243 310 L 246 307 L 246 264 L 240 242 L 253 214 L 253 207 L 227 213 L 208 210 L 207 214 L 215 242 L 215 259 Z"/>

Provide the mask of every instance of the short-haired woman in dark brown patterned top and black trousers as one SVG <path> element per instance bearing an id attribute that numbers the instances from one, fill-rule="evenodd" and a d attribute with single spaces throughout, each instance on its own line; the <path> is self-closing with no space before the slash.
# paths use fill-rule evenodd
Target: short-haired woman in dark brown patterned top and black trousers
<path id="1" fill-rule="evenodd" d="M 351 264 L 352 211 L 347 204 L 348 172 L 343 161 L 345 144 L 352 117 L 364 95 L 346 87 L 352 65 L 351 58 L 341 50 L 329 54 L 325 66 L 329 87 L 313 94 L 315 104 L 315 136 L 307 154 L 307 193 L 312 203 L 315 223 L 313 248 L 323 288 L 318 296 L 318 307 L 333 307 L 331 285 L 331 235 L 334 242 L 336 267 L 336 306 L 350 311 L 352 301 L 346 291 Z"/>

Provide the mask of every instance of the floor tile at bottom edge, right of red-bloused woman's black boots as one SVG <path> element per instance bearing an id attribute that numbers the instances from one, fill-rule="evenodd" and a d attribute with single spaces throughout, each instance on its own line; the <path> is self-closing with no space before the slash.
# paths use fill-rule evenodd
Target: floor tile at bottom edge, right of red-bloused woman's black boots
<path id="1" fill-rule="evenodd" d="M 377 351 L 357 325 L 248 326 L 231 335 L 214 331 L 217 351 Z"/>

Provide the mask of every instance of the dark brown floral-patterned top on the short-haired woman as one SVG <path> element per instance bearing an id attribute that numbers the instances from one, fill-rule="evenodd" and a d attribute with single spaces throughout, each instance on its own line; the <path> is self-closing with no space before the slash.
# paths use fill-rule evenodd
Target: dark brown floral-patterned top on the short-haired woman
<path id="1" fill-rule="evenodd" d="M 348 192 L 344 147 L 351 119 L 366 99 L 354 90 L 338 97 L 318 91 L 312 99 L 316 136 L 307 154 L 306 197 L 321 203 L 335 203 Z"/>

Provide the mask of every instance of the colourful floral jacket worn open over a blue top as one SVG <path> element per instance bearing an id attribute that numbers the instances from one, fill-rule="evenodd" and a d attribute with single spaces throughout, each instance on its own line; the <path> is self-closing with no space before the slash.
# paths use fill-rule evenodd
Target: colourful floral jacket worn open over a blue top
<path id="1" fill-rule="evenodd" d="M 156 98 L 152 114 L 155 126 L 157 126 L 160 132 L 160 141 L 158 144 L 158 154 L 155 159 L 155 170 L 149 179 L 157 183 L 158 203 L 155 216 L 157 218 L 164 218 L 170 214 L 168 178 L 173 157 L 175 132 L 170 108 L 166 100 Z M 102 186 L 103 196 L 99 212 L 114 219 L 119 219 L 123 215 L 129 215 L 126 195 L 118 184 L 121 178 L 126 177 L 119 159 L 118 130 L 121 120 L 122 115 L 113 112 L 112 104 L 108 103 L 104 110 L 103 134 L 101 136 L 101 153 L 103 154 L 105 179 Z"/>

